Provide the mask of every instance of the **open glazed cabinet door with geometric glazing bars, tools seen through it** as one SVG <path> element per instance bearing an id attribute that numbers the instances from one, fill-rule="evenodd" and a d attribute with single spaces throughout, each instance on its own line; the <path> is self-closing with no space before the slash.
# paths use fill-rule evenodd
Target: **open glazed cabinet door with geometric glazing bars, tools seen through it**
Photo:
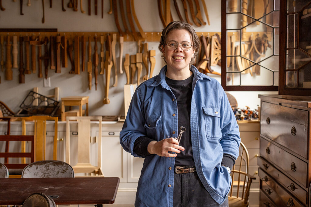
<path id="1" fill-rule="evenodd" d="M 279 0 L 222 0 L 221 84 L 225 91 L 277 91 Z"/>

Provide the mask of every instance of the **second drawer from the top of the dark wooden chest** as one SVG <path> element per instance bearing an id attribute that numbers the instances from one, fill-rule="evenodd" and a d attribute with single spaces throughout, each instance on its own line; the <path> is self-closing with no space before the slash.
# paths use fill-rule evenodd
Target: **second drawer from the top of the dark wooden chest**
<path id="1" fill-rule="evenodd" d="M 260 137 L 260 156 L 273 163 L 296 179 L 303 187 L 308 187 L 308 164 L 287 151 L 275 146 L 271 142 Z"/>

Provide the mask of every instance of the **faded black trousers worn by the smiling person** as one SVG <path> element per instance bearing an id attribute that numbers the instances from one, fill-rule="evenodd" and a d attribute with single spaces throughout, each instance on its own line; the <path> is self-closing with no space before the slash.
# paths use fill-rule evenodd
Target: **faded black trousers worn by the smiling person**
<path id="1" fill-rule="evenodd" d="M 174 173 L 174 207 L 228 207 L 228 197 L 219 205 L 204 188 L 197 172 Z"/>

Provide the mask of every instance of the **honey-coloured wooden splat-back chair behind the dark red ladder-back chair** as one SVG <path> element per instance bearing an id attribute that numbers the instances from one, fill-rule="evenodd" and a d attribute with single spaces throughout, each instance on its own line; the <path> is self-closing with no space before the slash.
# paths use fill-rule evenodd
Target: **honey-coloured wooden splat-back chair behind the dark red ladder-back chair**
<path id="1" fill-rule="evenodd" d="M 26 121 L 34 121 L 35 136 L 35 161 L 45 160 L 46 148 L 46 121 L 55 121 L 54 139 L 53 139 L 53 160 L 57 159 L 57 126 L 58 117 L 51 116 L 29 116 L 22 117 L 22 135 L 26 135 Z M 25 152 L 25 142 L 22 143 L 22 152 Z M 22 160 L 25 163 L 25 159 Z"/>

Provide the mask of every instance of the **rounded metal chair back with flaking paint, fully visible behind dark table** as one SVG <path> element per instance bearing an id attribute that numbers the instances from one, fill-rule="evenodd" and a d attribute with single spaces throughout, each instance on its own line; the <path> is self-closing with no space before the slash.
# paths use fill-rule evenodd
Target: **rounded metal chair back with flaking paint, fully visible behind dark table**
<path id="1" fill-rule="evenodd" d="M 59 160 L 42 160 L 28 164 L 21 173 L 22 178 L 74 178 L 70 164 Z"/>

